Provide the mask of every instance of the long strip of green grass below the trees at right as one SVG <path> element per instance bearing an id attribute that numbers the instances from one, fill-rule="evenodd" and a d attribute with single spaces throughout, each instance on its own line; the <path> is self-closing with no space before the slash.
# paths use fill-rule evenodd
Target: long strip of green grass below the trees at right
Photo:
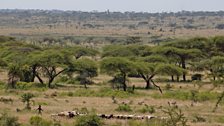
<path id="1" fill-rule="evenodd" d="M 212 101 L 216 100 L 220 93 L 217 92 L 194 92 L 191 91 L 166 91 L 163 94 L 154 93 L 151 96 L 156 99 L 168 98 L 168 99 L 178 99 L 178 100 L 196 100 L 202 101 Z"/>

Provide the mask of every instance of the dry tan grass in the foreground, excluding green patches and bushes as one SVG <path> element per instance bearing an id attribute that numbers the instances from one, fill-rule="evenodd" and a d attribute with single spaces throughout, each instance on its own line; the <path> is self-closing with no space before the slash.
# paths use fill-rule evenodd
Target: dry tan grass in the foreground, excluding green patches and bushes
<path id="1" fill-rule="evenodd" d="M 101 77 L 97 78 L 99 80 Z M 135 80 L 135 83 L 139 83 L 138 86 L 144 85 L 142 81 Z M 160 84 L 163 88 L 165 84 Z M 194 89 L 193 84 L 190 83 L 182 83 L 182 84 L 175 84 L 173 90 L 179 90 L 179 87 L 182 86 L 181 90 L 191 90 Z M 101 88 L 101 86 L 93 85 L 94 89 L 90 86 L 90 89 L 88 90 L 97 90 L 98 88 Z M 98 88 L 97 88 L 98 87 Z M 202 88 L 202 90 L 207 90 L 208 87 L 205 86 Z M 176 100 L 176 99 L 154 99 L 150 97 L 152 93 L 158 93 L 157 90 L 138 90 L 139 92 L 142 92 L 146 95 L 138 96 L 138 97 L 128 97 L 128 98 L 116 98 L 117 104 L 114 104 L 111 97 L 71 97 L 71 96 L 51 96 L 51 94 L 57 92 L 57 94 L 63 93 L 63 92 L 69 92 L 69 91 L 77 91 L 77 90 L 84 90 L 79 89 L 77 87 L 69 86 L 69 87 L 63 87 L 59 89 L 49 89 L 45 91 L 37 91 L 37 90 L 31 90 L 31 91 L 23 91 L 23 90 L 11 90 L 5 92 L 4 90 L 0 91 L 1 97 L 5 98 L 12 98 L 14 100 L 13 104 L 9 103 L 3 103 L 0 102 L 0 110 L 4 111 L 7 110 L 9 113 L 14 114 L 19 117 L 19 121 L 22 123 L 27 123 L 29 118 L 33 115 L 36 115 L 37 112 L 35 109 L 37 108 L 38 104 L 43 105 L 43 117 L 46 119 L 51 119 L 51 114 L 53 113 L 59 113 L 62 111 L 71 111 L 75 108 L 87 108 L 88 110 L 94 109 L 97 113 L 105 113 L 105 114 L 140 114 L 138 111 L 141 107 L 144 106 L 144 104 L 155 106 L 156 113 L 153 115 L 155 116 L 164 116 L 162 111 L 159 109 L 160 107 L 168 106 L 168 102 L 176 102 L 178 106 L 183 110 L 184 114 L 188 117 L 189 123 L 191 125 L 196 126 L 214 126 L 214 125 L 222 125 L 219 124 L 217 121 L 217 118 L 222 117 L 224 114 L 224 107 L 220 106 L 218 108 L 218 111 L 216 113 L 212 113 L 212 108 L 214 107 L 214 102 L 212 101 L 205 101 L 205 102 L 197 102 L 194 103 L 192 106 L 192 101 L 186 100 Z M 221 90 L 221 89 L 219 89 Z M 20 96 L 21 94 L 25 92 L 32 92 L 36 95 L 36 97 L 33 99 L 35 103 L 32 105 L 32 111 L 22 111 L 22 112 L 16 112 L 16 109 L 23 109 L 24 104 L 21 102 Z M 158 95 L 161 95 L 158 93 Z M 130 104 L 131 108 L 133 109 L 132 112 L 117 112 L 115 109 L 118 107 L 118 104 L 121 104 L 122 102 L 125 102 L 127 104 Z M 193 120 L 194 115 L 199 115 L 206 119 L 205 123 L 192 123 L 191 120 Z M 74 120 L 72 119 L 66 119 L 66 118 L 57 118 L 62 123 L 72 124 Z M 121 123 L 122 125 L 126 125 L 127 121 L 121 121 L 121 120 L 106 120 L 106 124 L 111 123 Z"/>

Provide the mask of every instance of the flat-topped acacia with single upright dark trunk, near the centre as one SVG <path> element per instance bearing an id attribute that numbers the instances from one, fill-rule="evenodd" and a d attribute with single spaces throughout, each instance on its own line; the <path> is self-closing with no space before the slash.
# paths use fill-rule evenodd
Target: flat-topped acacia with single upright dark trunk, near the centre
<path id="1" fill-rule="evenodd" d="M 126 58 L 109 57 L 101 61 L 101 72 L 111 76 L 120 75 L 122 78 L 122 88 L 127 90 L 127 75 L 134 70 L 134 64 Z"/>

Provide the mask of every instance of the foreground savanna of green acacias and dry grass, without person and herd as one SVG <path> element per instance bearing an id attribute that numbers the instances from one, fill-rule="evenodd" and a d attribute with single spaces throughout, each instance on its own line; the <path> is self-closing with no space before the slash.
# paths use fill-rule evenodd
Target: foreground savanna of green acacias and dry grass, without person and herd
<path id="1" fill-rule="evenodd" d="M 224 37 L 139 37 L 103 47 L 31 44 L 0 36 L 2 126 L 223 125 Z M 36 116 L 38 105 L 43 114 Z M 63 107 L 62 107 L 63 106 Z M 74 119 L 51 114 L 80 110 Z M 102 120 L 96 113 L 155 115 Z"/>

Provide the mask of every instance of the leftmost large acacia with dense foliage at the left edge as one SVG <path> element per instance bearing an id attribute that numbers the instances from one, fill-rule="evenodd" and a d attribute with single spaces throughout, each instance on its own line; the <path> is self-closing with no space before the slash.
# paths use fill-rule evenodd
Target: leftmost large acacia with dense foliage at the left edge
<path id="1" fill-rule="evenodd" d="M 15 88 L 17 81 L 30 82 L 30 71 L 27 69 L 28 55 L 39 47 L 21 42 L 8 42 L 2 44 L 0 57 L 8 64 L 8 82 Z"/>

